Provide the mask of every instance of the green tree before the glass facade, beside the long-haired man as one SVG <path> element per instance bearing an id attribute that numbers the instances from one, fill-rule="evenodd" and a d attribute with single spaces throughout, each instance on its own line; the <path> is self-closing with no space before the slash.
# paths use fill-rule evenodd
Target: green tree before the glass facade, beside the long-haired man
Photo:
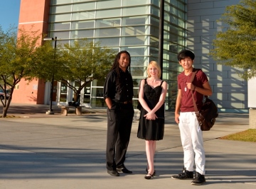
<path id="1" fill-rule="evenodd" d="M 61 70 L 55 79 L 66 84 L 74 91 L 74 101 L 78 101 L 80 92 L 95 79 L 104 79 L 114 61 L 114 50 L 101 47 L 99 42 L 75 40 L 73 45 L 64 45 L 65 49 L 58 51 L 57 64 Z M 59 65 L 64 65 L 60 68 Z M 76 85 L 74 85 L 74 82 Z"/>

